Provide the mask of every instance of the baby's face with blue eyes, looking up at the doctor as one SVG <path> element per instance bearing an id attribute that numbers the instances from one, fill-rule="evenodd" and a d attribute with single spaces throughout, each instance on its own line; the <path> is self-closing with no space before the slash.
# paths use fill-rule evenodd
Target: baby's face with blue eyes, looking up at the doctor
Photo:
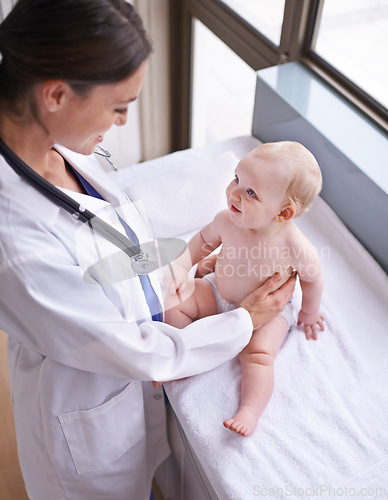
<path id="1" fill-rule="evenodd" d="M 248 153 L 226 189 L 232 222 L 247 229 L 266 230 L 284 205 L 288 182 L 287 170 L 268 161 L 260 148 Z"/>

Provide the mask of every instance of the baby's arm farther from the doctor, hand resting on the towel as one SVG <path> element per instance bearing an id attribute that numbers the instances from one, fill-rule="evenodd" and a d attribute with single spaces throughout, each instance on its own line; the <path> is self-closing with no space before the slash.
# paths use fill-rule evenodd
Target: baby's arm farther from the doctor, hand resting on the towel
<path id="1" fill-rule="evenodd" d="M 316 249 L 309 243 L 304 248 L 304 257 L 296 266 L 302 288 L 302 307 L 298 325 L 304 325 L 306 339 L 318 339 L 318 330 L 323 330 L 323 316 L 320 311 L 323 276 Z"/>

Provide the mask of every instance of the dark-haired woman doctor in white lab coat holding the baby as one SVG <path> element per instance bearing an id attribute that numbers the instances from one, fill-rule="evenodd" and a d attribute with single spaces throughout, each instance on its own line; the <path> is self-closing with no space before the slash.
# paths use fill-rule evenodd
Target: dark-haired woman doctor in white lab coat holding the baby
<path id="1" fill-rule="evenodd" d="M 146 500 L 169 453 L 163 398 L 149 381 L 236 356 L 294 281 L 272 294 L 273 277 L 243 307 L 179 331 L 152 321 L 152 274 L 152 300 L 137 276 L 112 283 L 99 269 L 85 279 L 112 243 L 20 177 L 4 151 L 121 233 L 150 239 L 93 155 L 126 122 L 150 43 L 124 0 L 20 0 L 0 26 L 0 52 L 0 327 L 27 493 Z"/>

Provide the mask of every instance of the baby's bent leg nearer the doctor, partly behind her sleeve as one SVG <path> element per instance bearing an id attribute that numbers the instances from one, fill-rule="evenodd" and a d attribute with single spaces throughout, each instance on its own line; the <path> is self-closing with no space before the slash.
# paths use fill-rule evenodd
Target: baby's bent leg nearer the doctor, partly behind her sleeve
<path id="1" fill-rule="evenodd" d="M 164 321 L 176 328 L 184 328 L 199 318 L 217 314 L 213 290 L 203 279 L 195 279 L 194 290 L 185 291 L 181 302 L 177 302 L 176 295 L 168 295 L 164 303 Z"/>

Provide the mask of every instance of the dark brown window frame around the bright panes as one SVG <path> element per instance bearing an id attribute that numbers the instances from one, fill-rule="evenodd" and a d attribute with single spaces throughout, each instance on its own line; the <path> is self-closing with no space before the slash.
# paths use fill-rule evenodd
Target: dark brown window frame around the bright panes
<path id="1" fill-rule="evenodd" d="M 170 0 L 172 151 L 190 147 L 194 19 L 255 71 L 302 62 L 387 133 L 387 110 L 311 49 L 322 7 L 323 0 L 285 0 L 277 46 L 221 0 Z"/>

